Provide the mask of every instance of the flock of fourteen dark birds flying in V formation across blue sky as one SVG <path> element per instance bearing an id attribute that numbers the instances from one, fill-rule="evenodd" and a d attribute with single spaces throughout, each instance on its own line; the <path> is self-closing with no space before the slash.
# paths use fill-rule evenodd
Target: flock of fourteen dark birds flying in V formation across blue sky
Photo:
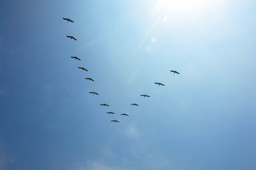
<path id="1" fill-rule="evenodd" d="M 68 18 L 62 18 L 63 20 L 67 20 L 67 22 L 74 22 L 73 20 L 71 20 L 71 19 L 68 19 Z M 77 40 L 74 36 L 67 36 L 67 38 L 70 38 L 70 40 Z M 79 61 L 81 61 L 81 59 L 80 58 L 77 58 L 77 56 L 71 56 L 70 58 L 72 58 L 72 59 L 75 59 L 75 60 L 79 60 Z M 82 71 L 83 70 L 85 70 L 86 72 L 88 72 L 88 70 L 86 69 L 86 68 L 84 68 L 84 67 L 81 67 L 81 66 L 78 66 L 78 68 L 79 69 L 81 69 Z M 170 72 L 173 72 L 173 74 L 180 74 L 179 72 L 177 72 L 177 71 L 175 71 L 175 70 L 170 70 Z M 91 77 L 86 77 L 85 78 L 86 80 L 88 80 L 88 81 L 94 81 Z M 158 86 L 165 86 L 164 84 L 162 84 L 161 82 L 155 82 L 155 84 L 157 84 Z M 90 91 L 89 92 L 90 94 L 92 94 L 92 95 L 99 95 L 99 93 L 96 93 L 96 92 L 94 92 L 94 91 Z M 141 97 L 150 97 L 149 95 L 140 95 Z M 136 104 L 136 103 L 134 103 L 134 104 L 131 104 L 131 105 L 134 105 L 134 106 L 139 106 L 138 104 Z M 103 107 L 108 107 L 109 105 L 108 104 L 100 104 L 100 106 L 103 106 Z M 115 112 L 107 112 L 108 114 L 115 114 Z M 128 114 L 126 114 L 126 113 L 123 113 L 123 114 L 120 114 L 120 115 L 122 115 L 122 116 L 129 116 Z M 113 122 L 120 122 L 120 121 L 118 121 L 118 120 L 111 120 L 111 121 L 113 121 Z"/>

